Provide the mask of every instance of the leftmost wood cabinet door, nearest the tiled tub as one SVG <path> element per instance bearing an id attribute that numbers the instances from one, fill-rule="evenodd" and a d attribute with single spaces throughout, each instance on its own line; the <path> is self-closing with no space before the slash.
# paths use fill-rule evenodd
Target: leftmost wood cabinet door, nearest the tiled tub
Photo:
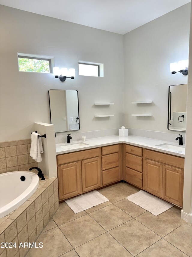
<path id="1" fill-rule="evenodd" d="M 59 199 L 67 199 L 80 193 L 79 162 L 58 167 Z"/>

